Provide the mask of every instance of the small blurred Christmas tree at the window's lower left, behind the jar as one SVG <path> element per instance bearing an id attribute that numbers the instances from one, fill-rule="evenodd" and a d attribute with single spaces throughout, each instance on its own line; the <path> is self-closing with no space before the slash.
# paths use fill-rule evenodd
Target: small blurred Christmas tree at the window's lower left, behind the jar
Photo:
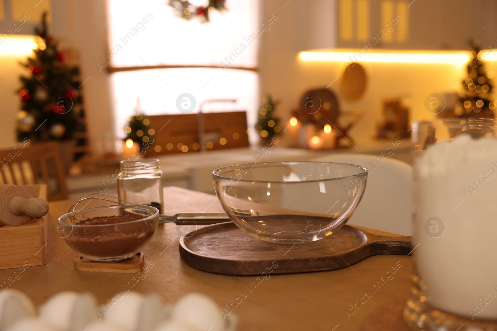
<path id="1" fill-rule="evenodd" d="M 124 128 L 126 132 L 126 146 L 131 148 L 133 146 L 132 141 L 137 142 L 143 148 L 148 147 L 148 142 L 152 139 L 155 134 L 155 130 L 152 129 L 152 125 L 147 116 L 143 114 L 143 110 L 140 108 L 140 98 L 137 99 L 135 116 L 129 118 L 128 125 Z"/>

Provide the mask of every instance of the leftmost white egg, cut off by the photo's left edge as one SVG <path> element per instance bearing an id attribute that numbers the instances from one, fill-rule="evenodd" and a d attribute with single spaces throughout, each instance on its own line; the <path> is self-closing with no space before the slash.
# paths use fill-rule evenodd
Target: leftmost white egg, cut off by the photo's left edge
<path id="1" fill-rule="evenodd" d="M 35 315 L 35 307 L 21 291 L 7 289 L 0 294 L 0 331 L 7 330 L 16 322 Z"/>

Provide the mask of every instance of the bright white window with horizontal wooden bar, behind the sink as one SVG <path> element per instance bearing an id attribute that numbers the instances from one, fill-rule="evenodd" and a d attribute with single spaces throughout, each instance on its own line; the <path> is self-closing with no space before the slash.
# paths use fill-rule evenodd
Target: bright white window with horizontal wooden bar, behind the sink
<path id="1" fill-rule="evenodd" d="M 176 99 L 182 93 L 194 96 L 192 113 L 206 100 L 236 99 L 206 104 L 202 111 L 246 110 L 252 127 L 259 103 L 258 40 L 246 39 L 258 27 L 258 0 L 227 0 L 228 10 L 210 12 L 203 24 L 175 17 L 166 3 L 108 0 L 109 60 L 99 66 L 112 72 L 117 136 L 125 135 L 138 97 L 147 115 L 180 114 Z"/>

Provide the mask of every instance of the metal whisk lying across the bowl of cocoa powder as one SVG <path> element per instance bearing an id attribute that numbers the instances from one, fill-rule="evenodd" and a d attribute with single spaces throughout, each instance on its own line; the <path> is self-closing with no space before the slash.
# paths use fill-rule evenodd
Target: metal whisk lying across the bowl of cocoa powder
<path id="1" fill-rule="evenodd" d="M 97 197 L 95 197 L 97 196 Z M 106 198 L 101 198 L 100 196 L 105 196 L 108 197 Z M 76 207 L 79 203 L 83 202 L 84 200 L 91 200 L 91 199 L 96 199 L 96 200 L 103 200 L 103 201 L 109 201 L 112 203 L 117 203 L 117 204 L 135 204 L 136 203 L 131 203 L 129 201 L 126 201 L 124 199 L 119 199 L 117 197 L 104 194 L 104 193 L 92 193 L 87 196 L 84 196 L 82 199 L 78 200 L 75 202 L 70 208 L 69 212 L 73 212 L 76 210 Z M 89 201 L 88 201 L 89 202 Z M 86 203 L 87 204 L 87 203 Z M 86 206 L 85 204 L 85 206 Z M 84 208 L 84 206 L 83 206 Z M 81 209 L 83 209 L 81 208 Z M 252 213 L 250 211 L 238 211 L 238 213 L 243 214 L 243 215 L 251 215 Z M 177 213 L 175 215 L 165 215 L 165 214 L 159 214 L 159 224 L 162 223 L 175 223 L 176 225 L 208 225 L 208 224 L 216 224 L 216 223 L 223 223 L 223 222 L 229 222 L 231 219 L 226 215 L 224 212 L 223 213 L 212 213 L 212 212 L 193 212 L 193 213 Z"/>

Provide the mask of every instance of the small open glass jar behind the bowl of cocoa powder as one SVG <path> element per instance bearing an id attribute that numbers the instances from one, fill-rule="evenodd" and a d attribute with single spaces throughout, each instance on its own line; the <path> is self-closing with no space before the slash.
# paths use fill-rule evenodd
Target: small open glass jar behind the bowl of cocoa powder
<path id="1" fill-rule="evenodd" d="M 119 199 L 145 204 L 164 212 L 161 163 L 158 159 L 124 160 L 117 176 Z"/>

